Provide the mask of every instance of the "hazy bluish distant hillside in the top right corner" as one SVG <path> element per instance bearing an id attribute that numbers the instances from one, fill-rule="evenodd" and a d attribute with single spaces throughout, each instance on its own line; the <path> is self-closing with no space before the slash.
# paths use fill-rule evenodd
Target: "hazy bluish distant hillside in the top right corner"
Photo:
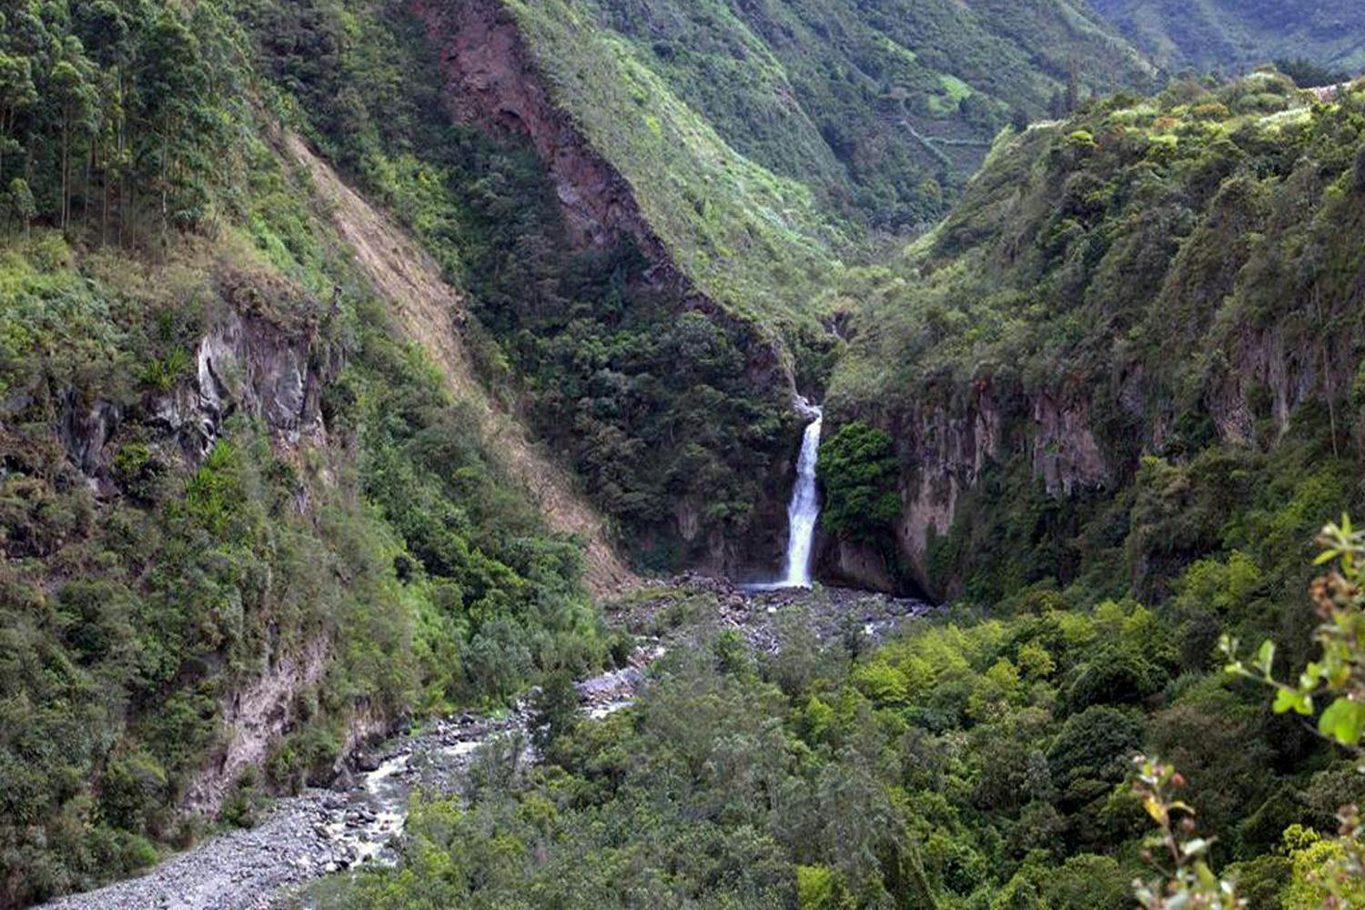
<path id="1" fill-rule="evenodd" d="M 1358 74 L 1365 18 L 1355 0 L 1091 0 L 1133 44 L 1171 71 L 1245 71 L 1305 57 Z"/>

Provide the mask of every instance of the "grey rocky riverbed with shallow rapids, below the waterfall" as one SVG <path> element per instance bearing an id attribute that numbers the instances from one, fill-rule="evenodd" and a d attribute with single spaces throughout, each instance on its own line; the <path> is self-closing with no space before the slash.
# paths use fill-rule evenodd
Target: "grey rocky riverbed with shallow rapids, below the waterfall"
<path id="1" fill-rule="evenodd" d="M 882 640 L 932 610 L 927 603 L 845 589 L 747 592 L 728 581 L 684 576 L 640 588 L 609 615 L 642 643 L 629 666 L 576 684 L 581 709 L 594 718 L 629 705 L 648 664 L 674 634 L 696 623 L 738 630 L 751 647 L 779 647 L 779 617 L 800 610 L 822 641 L 863 634 Z M 530 753 L 530 709 L 504 718 L 461 714 L 362 750 L 328 790 L 277 799 L 250 830 L 229 831 L 168 858 L 139 879 L 71 895 L 60 910 L 263 910 L 299 885 L 367 862 L 392 862 L 408 798 L 422 789 L 459 793 L 479 748 L 513 737 Z"/>

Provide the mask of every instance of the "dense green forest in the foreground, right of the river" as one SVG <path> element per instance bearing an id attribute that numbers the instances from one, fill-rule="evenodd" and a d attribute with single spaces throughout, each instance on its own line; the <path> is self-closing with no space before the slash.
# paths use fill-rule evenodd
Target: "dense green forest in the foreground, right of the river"
<path id="1" fill-rule="evenodd" d="M 799 610 L 785 619 L 766 658 L 703 633 L 606 720 L 542 711 L 542 764 L 489 749 L 468 801 L 418 802 L 396 870 L 325 883 L 319 900 L 1119 910 L 1137 906 L 1134 880 L 1163 894 L 1144 860 L 1160 835 L 1129 783 L 1143 749 L 1185 769 L 1181 798 L 1219 835 L 1207 858 L 1177 835 L 1196 879 L 1186 899 L 1203 903 L 1144 906 L 1360 899 L 1358 866 L 1343 864 L 1361 847 L 1335 838 L 1339 806 L 1361 795 L 1357 763 L 1274 715 L 1264 686 L 1181 670 L 1158 613 L 1039 599 L 883 648 L 856 626 L 822 648 Z M 1219 887 L 1197 881 L 1198 864 L 1248 903 L 1209 902 Z"/>

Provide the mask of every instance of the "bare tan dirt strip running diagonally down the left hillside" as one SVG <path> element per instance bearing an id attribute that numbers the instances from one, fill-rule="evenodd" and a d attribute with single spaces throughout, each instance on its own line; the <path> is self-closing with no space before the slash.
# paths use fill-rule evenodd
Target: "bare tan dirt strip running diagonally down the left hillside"
<path id="1" fill-rule="evenodd" d="M 530 491 L 551 528 L 587 540 L 584 580 L 592 593 L 610 593 L 636 584 L 609 543 L 601 516 L 573 491 L 568 473 L 536 450 L 524 427 L 491 405 L 475 379 L 460 341 L 464 300 L 441 277 L 430 254 L 351 190 L 299 136 L 287 134 L 284 145 L 311 176 L 337 231 L 354 247 L 356 261 L 389 302 L 404 330 L 441 368 L 450 392 L 483 412 L 483 431 L 501 465 Z"/>

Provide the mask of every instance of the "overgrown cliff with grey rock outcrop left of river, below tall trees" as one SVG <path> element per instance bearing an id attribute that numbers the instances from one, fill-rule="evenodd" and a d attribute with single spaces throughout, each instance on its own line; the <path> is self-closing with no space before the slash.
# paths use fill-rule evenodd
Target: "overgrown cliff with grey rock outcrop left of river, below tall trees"
<path id="1" fill-rule="evenodd" d="M 212 239 L 0 250 L 4 906 L 128 875 L 195 814 L 246 821 L 541 660 L 598 666 L 583 570 L 632 580 L 464 385 L 430 265 L 258 135 L 251 209 Z"/>

